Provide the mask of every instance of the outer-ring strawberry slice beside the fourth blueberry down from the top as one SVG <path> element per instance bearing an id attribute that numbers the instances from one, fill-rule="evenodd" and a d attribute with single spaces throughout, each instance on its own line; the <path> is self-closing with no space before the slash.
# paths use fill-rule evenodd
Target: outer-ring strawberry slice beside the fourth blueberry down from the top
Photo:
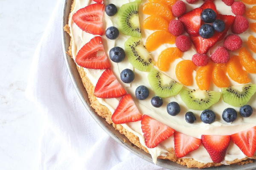
<path id="1" fill-rule="evenodd" d="M 125 94 L 125 89 L 110 68 L 102 73 L 94 89 L 94 95 L 103 99 L 121 97 Z"/>

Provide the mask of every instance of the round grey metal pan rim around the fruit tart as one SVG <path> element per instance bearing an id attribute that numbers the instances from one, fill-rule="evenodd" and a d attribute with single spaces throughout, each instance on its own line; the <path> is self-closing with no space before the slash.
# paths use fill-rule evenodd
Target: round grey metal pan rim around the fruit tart
<path id="1" fill-rule="evenodd" d="M 62 27 L 63 28 L 66 24 L 68 24 L 68 17 L 70 14 L 70 8 L 71 8 L 72 0 L 65 0 L 65 3 L 63 5 L 63 17 L 62 17 Z M 100 117 L 93 108 L 90 107 L 90 100 L 88 99 L 87 91 L 85 90 L 79 72 L 76 69 L 76 64 L 74 60 L 67 55 L 66 51 L 68 50 L 68 47 L 70 46 L 70 36 L 62 29 L 62 45 L 63 45 L 63 54 L 64 59 L 67 64 L 67 69 L 69 71 L 71 80 L 73 82 L 73 85 L 76 88 L 77 94 L 79 98 L 81 99 L 82 103 L 84 104 L 84 107 L 87 109 L 87 111 L 90 113 L 90 115 L 93 117 L 93 119 L 99 124 L 100 127 L 102 127 L 105 132 L 107 132 L 116 142 L 121 144 L 126 149 L 130 150 L 132 153 L 136 154 L 137 156 L 140 156 L 142 159 L 145 159 L 146 161 L 149 161 L 151 163 L 152 159 L 150 154 L 145 153 L 140 148 L 134 146 L 124 135 L 120 134 L 117 130 L 114 129 L 112 125 L 109 125 L 105 119 Z M 126 139 L 124 142 L 123 139 Z M 185 166 L 179 165 L 175 162 L 169 161 L 169 160 L 163 160 L 158 159 L 157 165 L 160 167 L 165 167 L 170 170 L 188 170 Z M 221 167 L 212 167 L 207 168 L 207 170 L 256 170 L 256 162 L 251 164 L 245 164 L 245 165 L 230 165 L 230 166 L 221 166 Z M 191 168 L 190 170 L 198 170 L 197 168 Z"/>

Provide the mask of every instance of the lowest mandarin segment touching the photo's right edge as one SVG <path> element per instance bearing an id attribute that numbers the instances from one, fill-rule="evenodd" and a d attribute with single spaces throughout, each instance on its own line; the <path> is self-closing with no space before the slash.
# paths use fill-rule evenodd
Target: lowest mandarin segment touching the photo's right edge
<path id="1" fill-rule="evenodd" d="M 241 65 L 244 66 L 248 73 L 256 73 L 256 61 L 253 59 L 252 55 L 246 48 L 240 48 L 239 59 Z"/>

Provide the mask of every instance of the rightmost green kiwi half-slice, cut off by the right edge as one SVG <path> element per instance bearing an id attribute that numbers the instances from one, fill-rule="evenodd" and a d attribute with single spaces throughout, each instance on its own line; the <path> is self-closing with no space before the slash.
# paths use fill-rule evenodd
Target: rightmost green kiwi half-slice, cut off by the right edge
<path id="1" fill-rule="evenodd" d="M 231 86 L 228 88 L 221 88 L 221 92 L 224 102 L 239 107 L 249 102 L 250 98 L 256 92 L 256 85 Z"/>

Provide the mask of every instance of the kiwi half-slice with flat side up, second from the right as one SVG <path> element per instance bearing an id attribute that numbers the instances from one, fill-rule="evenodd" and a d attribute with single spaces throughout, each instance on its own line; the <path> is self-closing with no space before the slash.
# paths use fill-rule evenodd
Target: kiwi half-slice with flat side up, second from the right
<path id="1" fill-rule="evenodd" d="M 180 96 L 188 108 L 203 111 L 219 101 L 221 92 L 184 88 Z"/>

